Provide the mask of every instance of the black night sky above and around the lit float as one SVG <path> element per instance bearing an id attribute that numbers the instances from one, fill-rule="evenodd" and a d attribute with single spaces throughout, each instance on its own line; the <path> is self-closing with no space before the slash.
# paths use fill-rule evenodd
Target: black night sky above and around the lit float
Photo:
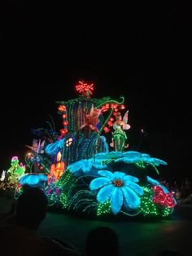
<path id="1" fill-rule="evenodd" d="M 124 95 L 130 150 L 142 128 L 139 151 L 168 162 L 162 175 L 190 177 L 192 4 L 7 0 L 0 10 L 1 170 L 24 159 L 49 114 L 61 128 L 55 101 L 78 97 L 84 80 L 93 98 Z"/>

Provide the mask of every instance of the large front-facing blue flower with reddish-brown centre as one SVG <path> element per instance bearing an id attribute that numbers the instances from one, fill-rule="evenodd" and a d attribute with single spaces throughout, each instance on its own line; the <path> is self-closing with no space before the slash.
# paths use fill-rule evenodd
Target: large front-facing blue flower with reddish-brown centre
<path id="1" fill-rule="evenodd" d="M 113 214 L 118 214 L 123 204 L 127 210 L 137 209 L 139 196 L 143 195 L 142 188 L 136 184 L 137 178 L 120 171 L 111 173 L 109 170 L 99 170 L 98 174 L 103 177 L 93 179 L 89 188 L 98 191 L 99 203 L 110 200 Z"/>

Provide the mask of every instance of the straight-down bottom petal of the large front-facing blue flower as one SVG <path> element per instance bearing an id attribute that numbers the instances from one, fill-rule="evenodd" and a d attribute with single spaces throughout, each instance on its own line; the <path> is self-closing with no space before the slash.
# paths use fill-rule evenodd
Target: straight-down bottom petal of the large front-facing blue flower
<path id="1" fill-rule="evenodd" d="M 121 206 L 123 205 L 123 193 L 120 188 L 114 188 L 111 194 L 111 210 L 113 214 L 120 212 Z"/>

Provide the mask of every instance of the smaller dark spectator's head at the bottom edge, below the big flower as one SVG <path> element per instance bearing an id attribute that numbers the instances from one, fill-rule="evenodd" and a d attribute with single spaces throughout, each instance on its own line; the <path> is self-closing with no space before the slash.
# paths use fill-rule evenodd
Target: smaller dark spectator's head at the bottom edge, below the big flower
<path id="1" fill-rule="evenodd" d="M 120 256 L 119 241 L 110 227 L 92 229 L 86 239 L 87 256 Z"/>

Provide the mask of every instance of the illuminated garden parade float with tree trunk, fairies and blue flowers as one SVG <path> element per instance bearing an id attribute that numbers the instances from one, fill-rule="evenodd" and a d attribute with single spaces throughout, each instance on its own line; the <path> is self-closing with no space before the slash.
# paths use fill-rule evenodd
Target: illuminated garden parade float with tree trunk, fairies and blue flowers
<path id="1" fill-rule="evenodd" d="M 124 97 L 93 97 L 94 84 L 78 82 L 76 99 L 58 101 L 62 128 L 33 130 L 26 170 L 15 198 L 26 186 L 39 187 L 51 208 L 63 213 L 125 218 L 165 217 L 177 205 L 158 179 L 167 163 L 129 150 L 129 111 Z M 111 136 L 108 136 L 111 135 Z M 110 141 L 108 138 L 111 138 Z"/>

